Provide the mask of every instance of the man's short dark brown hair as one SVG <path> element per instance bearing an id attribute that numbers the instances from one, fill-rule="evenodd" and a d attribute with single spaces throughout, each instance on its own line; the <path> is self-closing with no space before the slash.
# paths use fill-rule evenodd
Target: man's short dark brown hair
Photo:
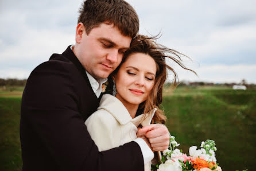
<path id="1" fill-rule="evenodd" d="M 123 0 L 87 0 L 79 10 L 77 24 L 82 22 L 86 33 L 102 24 L 114 24 L 124 36 L 133 38 L 139 30 L 136 11 Z"/>

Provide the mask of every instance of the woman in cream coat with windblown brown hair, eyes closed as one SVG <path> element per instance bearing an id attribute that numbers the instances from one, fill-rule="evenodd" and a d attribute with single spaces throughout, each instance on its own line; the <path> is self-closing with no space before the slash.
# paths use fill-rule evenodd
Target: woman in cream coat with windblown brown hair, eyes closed
<path id="1" fill-rule="evenodd" d="M 165 123 L 160 104 L 166 68 L 173 72 L 177 85 L 177 74 L 165 63 L 165 57 L 192 71 L 180 62 L 181 53 L 156 44 L 154 39 L 142 35 L 133 38 L 130 49 L 108 80 L 113 95 L 104 94 L 98 110 L 85 122 L 99 151 L 133 141 L 139 125 Z M 150 164 L 145 165 L 145 170 L 150 170 Z"/>

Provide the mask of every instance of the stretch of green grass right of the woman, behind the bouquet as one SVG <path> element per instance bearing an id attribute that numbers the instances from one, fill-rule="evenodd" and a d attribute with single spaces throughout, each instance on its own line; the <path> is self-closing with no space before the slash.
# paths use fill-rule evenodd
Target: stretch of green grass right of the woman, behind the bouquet
<path id="1" fill-rule="evenodd" d="M 254 170 L 256 91 L 177 88 L 162 103 L 180 149 L 212 139 L 223 170 Z"/>

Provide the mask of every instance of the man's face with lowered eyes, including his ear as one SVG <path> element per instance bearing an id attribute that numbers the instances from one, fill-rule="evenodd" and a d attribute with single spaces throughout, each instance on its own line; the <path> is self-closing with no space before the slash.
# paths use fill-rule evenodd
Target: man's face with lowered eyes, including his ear
<path id="1" fill-rule="evenodd" d="M 77 25 L 74 53 L 88 73 L 103 79 L 121 63 L 130 42 L 131 37 L 123 36 L 113 24 L 102 23 L 89 34 L 83 25 Z"/>

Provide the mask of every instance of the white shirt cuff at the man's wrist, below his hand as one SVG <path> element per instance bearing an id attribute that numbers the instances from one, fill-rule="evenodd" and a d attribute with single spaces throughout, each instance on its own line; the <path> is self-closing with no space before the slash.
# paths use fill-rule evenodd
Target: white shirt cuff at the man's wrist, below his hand
<path id="1" fill-rule="evenodd" d="M 141 147 L 141 152 L 144 160 L 144 165 L 151 162 L 154 158 L 153 151 L 149 148 L 147 143 L 142 138 L 136 138 L 134 139 L 135 142 L 138 143 L 139 147 Z"/>

